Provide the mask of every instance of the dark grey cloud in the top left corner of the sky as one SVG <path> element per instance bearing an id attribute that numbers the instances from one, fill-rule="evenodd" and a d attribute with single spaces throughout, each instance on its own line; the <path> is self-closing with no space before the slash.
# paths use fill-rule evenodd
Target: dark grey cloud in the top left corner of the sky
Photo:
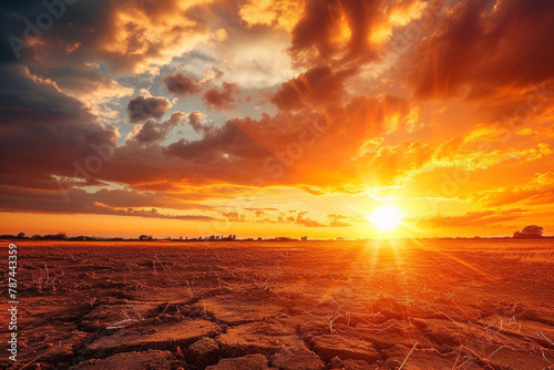
<path id="1" fill-rule="evenodd" d="M 80 99 L 129 94 L 95 63 L 94 38 L 110 29 L 109 1 L 4 1 L 0 6 L 0 63 L 21 63 Z M 104 13 L 103 13 L 104 12 Z M 107 16 L 106 16 L 107 14 Z"/>

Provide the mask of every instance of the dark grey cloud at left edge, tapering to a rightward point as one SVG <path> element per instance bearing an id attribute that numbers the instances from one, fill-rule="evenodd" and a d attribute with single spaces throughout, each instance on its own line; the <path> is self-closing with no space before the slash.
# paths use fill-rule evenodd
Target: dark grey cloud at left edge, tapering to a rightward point
<path id="1" fill-rule="evenodd" d="M 93 145 L 114 145 L 116 132 L 99 124 L 88 107 L 53 82 L 23 66 L 3 66 L 0 73 L 3 184 L 55 186 L 51 175 L 71 176 L 73 162 L 96 155 Z"/>

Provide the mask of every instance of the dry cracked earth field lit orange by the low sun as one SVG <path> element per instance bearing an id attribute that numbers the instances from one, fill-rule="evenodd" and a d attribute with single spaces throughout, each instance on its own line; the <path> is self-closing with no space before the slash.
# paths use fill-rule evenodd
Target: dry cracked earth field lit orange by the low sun
<path id="1" fill-rule="evenodd" d="M 17 245 L 1 369 L 554 369 L 554 240 Z"/>

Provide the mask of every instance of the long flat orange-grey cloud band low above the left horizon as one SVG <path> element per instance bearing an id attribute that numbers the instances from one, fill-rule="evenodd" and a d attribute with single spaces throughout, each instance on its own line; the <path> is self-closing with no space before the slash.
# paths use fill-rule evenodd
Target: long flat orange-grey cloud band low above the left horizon
<path id="1" fill-rule="evenodd" d="M 178 189 L 141 191 L 125 186 L 110 188 L 114 184 L 82 182 L 73 178 L 60 178 L 60 187 L 34 187 L 0 185 L 0 210 L 48 214 L 99 214 L 172 218 L 183 220 L 211 220 L 218 215 L 214 207 L 204 201 L 219 198 L 219 187 L 182 187 Z M 101 187 L 98 189 L 98 187 Z M 64 199 L 61 189 L 68 198 Z M 225 194 L 239 194 L 243 189 L 226 188 Z M 174 212 L 161 214 L 157 208 L 171 208 Z M 186 210 L 184 214 L 183 210 Z"/>

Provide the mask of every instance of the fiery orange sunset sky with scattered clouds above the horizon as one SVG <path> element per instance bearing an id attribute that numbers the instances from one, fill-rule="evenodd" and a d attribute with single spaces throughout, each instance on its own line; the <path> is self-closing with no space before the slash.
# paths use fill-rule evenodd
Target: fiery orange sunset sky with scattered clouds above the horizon
<path id="1" fill-rule="evenodd" d="M 554 235 L 553 1 L 0 8 L 1 234 Z"/>

